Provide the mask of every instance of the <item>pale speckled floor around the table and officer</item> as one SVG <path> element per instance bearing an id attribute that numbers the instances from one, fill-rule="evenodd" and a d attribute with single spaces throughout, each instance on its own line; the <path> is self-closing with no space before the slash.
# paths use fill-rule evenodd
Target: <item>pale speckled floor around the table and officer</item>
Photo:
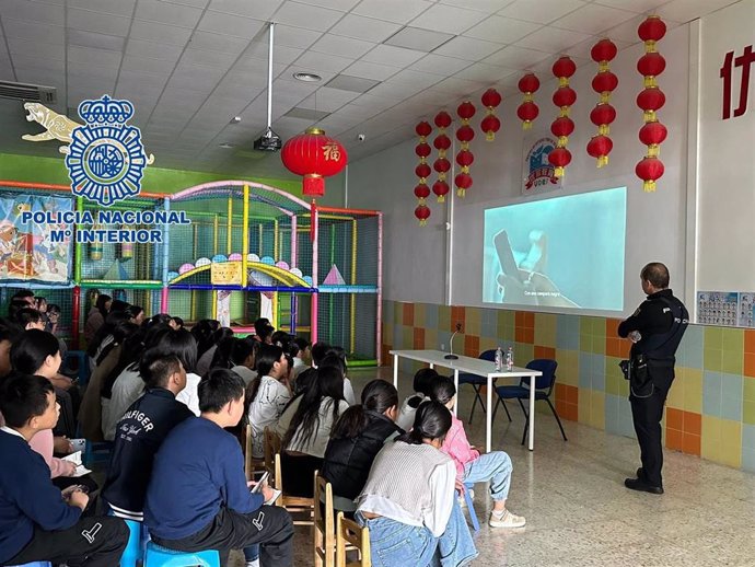
<path id="1" fill-rule="evenodd" d="M 350 372 L 355 391 L 390 369 Z M 399 377 L 399 394 L 411 379 Z M 463 391 L 460 415 L 469 415 L 471 390 Z M 487 525 L 490 499 L 476 486 L 475 508 L 481 530 L 475 540 L 475 566 L 755 566 L 755 475 L 665 452 L 665 495 L 627 490 L 624 478 L 639 466 L 634 439 L 565 423 L 564 442 L 549 414 L 538 414 L 535 451 L 520 444 L 524 419 L 510 406 L 493 424 L 493 450 L 514 463 L 509 507 L 527 519 L 526 528 L 492 530 Z M 475 413 L 467 435 L 484 444 L 485 421 Z M 311 566 L 312 535 L 297 528 L 294 565 Z M 232 556 L 243 567 L 243 556 Z"/>

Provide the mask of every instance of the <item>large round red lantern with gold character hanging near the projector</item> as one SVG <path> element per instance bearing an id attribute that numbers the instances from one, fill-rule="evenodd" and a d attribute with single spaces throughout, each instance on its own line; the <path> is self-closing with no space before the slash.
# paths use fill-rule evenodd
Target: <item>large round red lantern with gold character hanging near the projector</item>
<path id="1" fill-rule="evenodd" d="M 325 136 L 320 128 L 309 128 L 283 144 L 280 159 L 289 171 L 304 176 L 304 195 L 322 197 L 324 177 L 340 173 L 348 155 L 338 140 Z"/>

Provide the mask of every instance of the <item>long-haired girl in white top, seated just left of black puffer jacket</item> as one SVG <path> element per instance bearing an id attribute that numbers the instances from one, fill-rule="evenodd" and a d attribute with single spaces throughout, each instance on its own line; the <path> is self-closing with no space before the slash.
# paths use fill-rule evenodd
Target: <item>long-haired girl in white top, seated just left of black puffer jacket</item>
<path id="1" fill-rule="evenodd" d="M 348 408 L 340 369 L 318 368 L 317 378 L 299 403 L 291 404 L 284 412 L 290 416 L 280 455 L 286 494 L 312 496 L 312 478 L 314 472 L 323 467 L 333 426 Z M 280 420 L 283 421 L 284 416 Z"/>

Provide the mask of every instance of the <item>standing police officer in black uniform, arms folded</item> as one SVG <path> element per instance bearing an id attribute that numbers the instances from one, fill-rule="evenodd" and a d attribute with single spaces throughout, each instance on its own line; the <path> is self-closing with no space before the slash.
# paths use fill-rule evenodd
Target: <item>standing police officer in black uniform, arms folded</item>
<path id="1" fill-rule="evenodd" d="M 632 342 L 629 403 L 642 461 L 637 478 L 627 478 L 624 485 L 632 490 L 663 494 L 661 418 L 674 381 L 674 354 L 689 314 L 669 289 L 665 265 L 648 264 L 640 273 L 640 280 L 648 299 L 618 326 L 618 335 Z"/>

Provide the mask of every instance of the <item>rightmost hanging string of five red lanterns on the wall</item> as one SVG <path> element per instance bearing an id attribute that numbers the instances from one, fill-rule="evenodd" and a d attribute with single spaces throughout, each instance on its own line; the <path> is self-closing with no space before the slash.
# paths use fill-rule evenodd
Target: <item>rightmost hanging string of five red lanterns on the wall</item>
<path id="1" fill-rule="evenodd" d="M 642 180 L 646 192 L 655 190 L 655 182 L 663 175 L 663 162 L 658 158 L 660 146 L 666 139 L 667 130 L 657 116 L 663 107 L 666 96 L 658 86 L 657 77 L 666 68 L 666 61 L 655 49 L 666 34 L 666 24 L 657 15 L 648 16 L 637 28 L 637 35 L 644 43 L 644 55 L 637 61 L 637 71 L 643 77 L 644 89 L 637 95 L 637 106 L 642 109 L 644 126 L 640 128 L 639 138 L 648 147 L 646 157 L 637 164 L 635 172 Z"/>

